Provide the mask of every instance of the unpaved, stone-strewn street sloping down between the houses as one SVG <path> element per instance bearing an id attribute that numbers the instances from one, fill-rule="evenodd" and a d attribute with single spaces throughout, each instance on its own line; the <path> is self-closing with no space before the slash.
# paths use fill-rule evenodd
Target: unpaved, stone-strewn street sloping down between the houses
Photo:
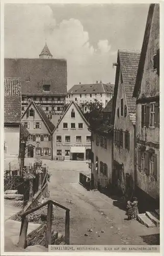
<path id="1" fill-rule="evenodd" d="M 66 162 L 63 164 L 67 166 Z M 125 211 L 115 206 L 116 200 L 99 191 L 87 191 L 78 183 L 78 170 L 67 170 L 66 167 L 49 170 L 51 199 L 70 208 L 71 244 L 159 244 L 159 228 L 147 228 L 136 220 L 127 221 Z M 65 214 L 57 208 L 55 215 L 53 229 L 64 233 Z"/>

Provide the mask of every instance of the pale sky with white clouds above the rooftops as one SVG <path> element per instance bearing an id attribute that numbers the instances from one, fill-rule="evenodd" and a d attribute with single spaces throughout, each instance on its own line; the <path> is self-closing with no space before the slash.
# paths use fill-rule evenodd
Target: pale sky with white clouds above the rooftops
<path id="1" fill-rule="evenodd" d="M 67 89 L 115 83 L 118 49 L 141 50 L 148 4 L 5 4 L 5 57 L 67 60 Z"/>

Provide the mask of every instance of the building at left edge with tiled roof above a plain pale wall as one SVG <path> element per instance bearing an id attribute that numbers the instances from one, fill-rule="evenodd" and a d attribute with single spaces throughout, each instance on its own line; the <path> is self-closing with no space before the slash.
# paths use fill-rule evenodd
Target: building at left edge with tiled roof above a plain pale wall
<path id="1" fill-rule="evenodd" d="M 5 169 L 19 169 L 21 124 L 21 79 L 4 80 L 4 157 Z"/>

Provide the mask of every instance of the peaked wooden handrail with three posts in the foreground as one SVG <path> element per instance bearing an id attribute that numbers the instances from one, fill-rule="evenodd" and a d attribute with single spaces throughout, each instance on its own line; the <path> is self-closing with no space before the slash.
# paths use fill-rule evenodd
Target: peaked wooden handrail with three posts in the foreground
<path id="1" fill-rule="evenodd" d="M 52 200 L 48 200 L 44 203 L 42 203 L 39 206 L 36 206 L 30 210 L 27 210 L 20 214 L 21 216 L 21 228 L 20 228 L 20 234 L 19 234 L 19 242 L 18 246 L 22 248 L 26 248 L 26 235 L 28 231 L 28 219 L 26 218 L 27 215 L 31 214 L 32 212 L 42 208 L 43 206 L 47 205 L 47 228 L 46 228 L 46 247 L 48 248 L 48 245 L 51 244 L 51 227 L 52 227 L 52 210 L 53 205 L 56 205 L 66 211 L 65 215 L 65 243 L 70 244 L 69 236 L 70 236 L 70 209 L 66 208 L 65 206 L 58 204 Z"/>

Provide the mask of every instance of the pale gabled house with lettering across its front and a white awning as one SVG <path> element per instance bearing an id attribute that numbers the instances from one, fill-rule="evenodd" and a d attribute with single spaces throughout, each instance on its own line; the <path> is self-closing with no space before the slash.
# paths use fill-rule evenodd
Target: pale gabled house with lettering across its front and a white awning
<path id="1" fill-rule="evenodd" d="M 89 123 L 79 106 L 72 101 L 53 132 L 53 159 L 87 160 L 90 158 Z"/>

